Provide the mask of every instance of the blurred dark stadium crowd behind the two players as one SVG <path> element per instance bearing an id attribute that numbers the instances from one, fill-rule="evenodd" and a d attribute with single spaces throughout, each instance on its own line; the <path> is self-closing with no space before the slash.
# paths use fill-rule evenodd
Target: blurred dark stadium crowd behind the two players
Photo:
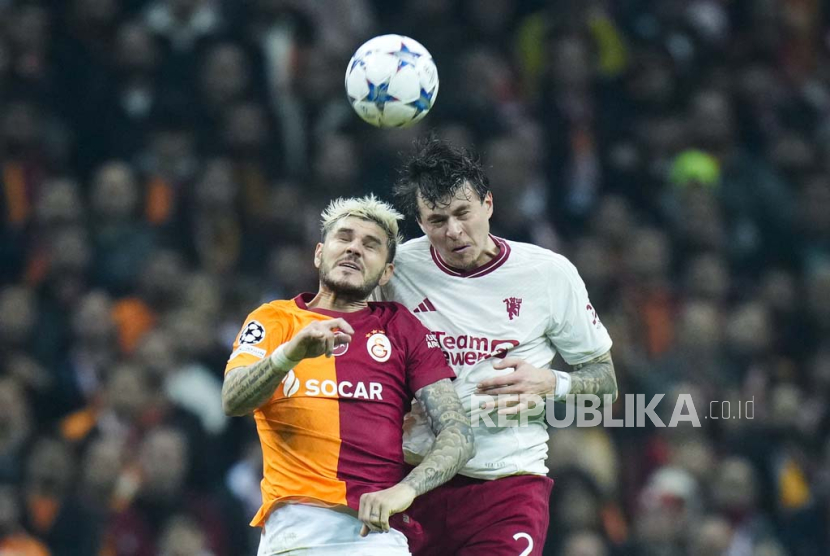
<path id="1" fill-rule="evenodd" d="M 821 0 L 0 0 L 0 554 L 255 554 L 229 348 L 316 288 L 320 209 L 388 197 L 429 129 L 483 154 L 496 234 L 577 265 L 621 393 L 701 418 L 554 431 L 545 553 L 830 554 L 828 22 Z M 439 69 L 413 130 L 345 99 L 386 32 Z"/>

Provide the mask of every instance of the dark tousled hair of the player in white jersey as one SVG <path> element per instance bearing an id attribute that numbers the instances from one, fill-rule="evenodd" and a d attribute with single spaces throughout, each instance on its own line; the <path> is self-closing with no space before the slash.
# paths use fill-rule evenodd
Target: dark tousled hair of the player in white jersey
<path id="1" fill-rule="evenodd" d="M 430 207 L 448 206 L 467 182 L 479 200 L 490 191 L 481 161 L 473 152 L 430 135 L 415 142 L 415 152 L 395 183 L 395 202 L 407 216 L 420 220 L 418 194 Z"/>

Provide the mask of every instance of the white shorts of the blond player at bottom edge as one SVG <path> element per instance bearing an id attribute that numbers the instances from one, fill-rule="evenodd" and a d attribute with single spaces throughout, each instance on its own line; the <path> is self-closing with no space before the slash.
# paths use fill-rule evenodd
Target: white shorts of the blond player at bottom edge
<path id="1" fill-rule="evenodd" d="M 286 504 L 268 516 L 257 556 L 411 556 L 400 531 L 361 537 L 362 526 L 349 514 Z"/>

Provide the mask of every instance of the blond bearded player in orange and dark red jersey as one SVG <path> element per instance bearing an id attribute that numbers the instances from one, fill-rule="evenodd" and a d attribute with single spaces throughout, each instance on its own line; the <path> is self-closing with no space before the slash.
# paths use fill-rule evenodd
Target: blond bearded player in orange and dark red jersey
<path id="1" fill-rule="evenodd" d="M 473 455 L 435 338 L 402 305 L 367 302 L 392 276 L 400 218 L 374 196 L 332 202 L 318 292 L 259 307 L 234 344 L 222 401 L 229 415 L 253 412 L 262 443 L 260 556 L 408 555 L 401 530 L 417 524 L 395 518 Z M 401 445 L 413 397 L 436 443 L 411 469 Z"/>

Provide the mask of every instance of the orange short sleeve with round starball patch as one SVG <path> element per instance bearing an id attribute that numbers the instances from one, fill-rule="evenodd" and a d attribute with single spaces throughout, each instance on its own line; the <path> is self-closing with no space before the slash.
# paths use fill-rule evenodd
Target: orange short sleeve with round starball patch
<path id="1" fill-rule="evenodd" d="M 256 363 L 270 355 L 284 340 L 286 326 L 279 311 L 265 304 L 253 311 L 236 335 L 225 373 Z"/>

